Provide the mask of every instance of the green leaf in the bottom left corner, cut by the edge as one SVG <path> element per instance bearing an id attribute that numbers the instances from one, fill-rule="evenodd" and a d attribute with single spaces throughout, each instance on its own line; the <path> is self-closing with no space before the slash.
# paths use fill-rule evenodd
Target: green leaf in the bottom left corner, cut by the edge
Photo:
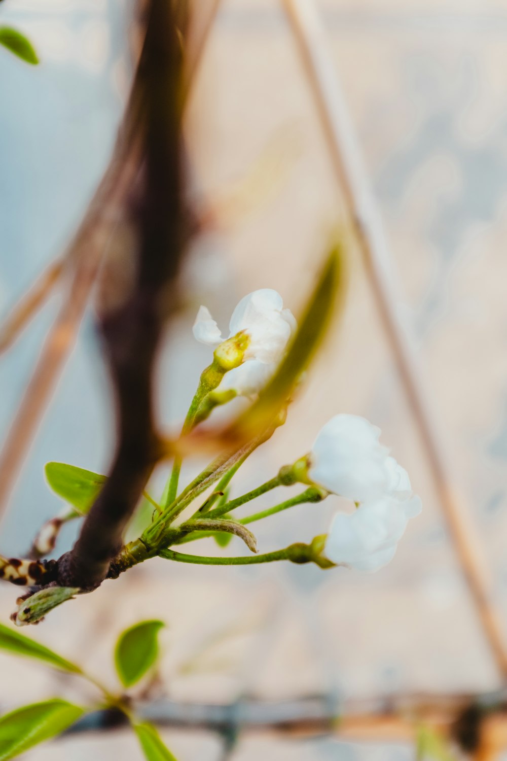
<path id="1" fill-rule="evenodd" d="M 84 714 L 84 708 L 53 699 L 24 705 L 0 718 L 0 761 L 14 758 L 49 737 L 61 734 Z"/>

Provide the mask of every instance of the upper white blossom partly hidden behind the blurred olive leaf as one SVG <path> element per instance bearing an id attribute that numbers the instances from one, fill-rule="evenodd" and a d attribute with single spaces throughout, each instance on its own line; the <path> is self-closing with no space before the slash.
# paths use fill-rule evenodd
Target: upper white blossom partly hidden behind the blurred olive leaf
<path id="1" fill-rule="evenodd" d="M 228 371 L 217 393 L 233 390 L 241 396 L 255 396 L 277 368 L 287 344 L 296 330 L 296 320 L 277 291 L 261 288 L 242 298 L 233 311 L 229 336 L 222 336 L 206 307 L 200 307 L 195 319 L 195 339 L 210 346 L 238 333 L 248 337 L 242 364 Z"/>

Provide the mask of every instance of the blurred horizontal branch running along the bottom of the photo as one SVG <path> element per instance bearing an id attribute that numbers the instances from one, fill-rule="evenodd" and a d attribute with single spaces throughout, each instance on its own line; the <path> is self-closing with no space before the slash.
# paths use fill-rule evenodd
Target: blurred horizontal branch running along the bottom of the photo
<path id="1" fill-rule="evenodd" d="M 442 734 L 474 758 L 494 758 L 507 747 L 505 693 L 407 694 L 337 703 L 328 696 L 284 702 L 241 699 L 231 704 L 141 702 L 135 714 L 160 727 L 220 734 L 270 732 L 287 737 L 333 735 L 341 740 L 414 743 L 421 724 Z M 118 726 L 122 716 L 88 714 L 71 733 Z"/>

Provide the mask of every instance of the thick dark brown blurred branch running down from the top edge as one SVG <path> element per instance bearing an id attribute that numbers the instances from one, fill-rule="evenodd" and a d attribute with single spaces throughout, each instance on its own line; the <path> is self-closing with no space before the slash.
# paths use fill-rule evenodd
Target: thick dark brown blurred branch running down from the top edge
<path id="1" fill-rule="evenodd" d="M 166 0 L 152 0 L 138 66 L 143 168 L 131 215 L 138 254 L 130 291 L 100 320 L 116 393 L 117 448 L 112 470 L 78 541 L 58 562 L 62 586 L 90 590 L 106 578 L 154 464 L 163 454 L 153 417 L 153 369 L 160 334 L 176 306 L 182 251 L 179 40 Z"/>

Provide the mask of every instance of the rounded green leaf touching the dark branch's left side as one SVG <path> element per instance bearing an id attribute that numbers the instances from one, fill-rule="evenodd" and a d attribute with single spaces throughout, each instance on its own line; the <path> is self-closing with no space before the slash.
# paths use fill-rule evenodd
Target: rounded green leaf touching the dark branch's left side
<path id="1" fill-rule="evenodd" d="M 55 494 L 86 514 L 97 499 L 107 476 L 65 463 L 46 463 L 46 480 Z"/>

